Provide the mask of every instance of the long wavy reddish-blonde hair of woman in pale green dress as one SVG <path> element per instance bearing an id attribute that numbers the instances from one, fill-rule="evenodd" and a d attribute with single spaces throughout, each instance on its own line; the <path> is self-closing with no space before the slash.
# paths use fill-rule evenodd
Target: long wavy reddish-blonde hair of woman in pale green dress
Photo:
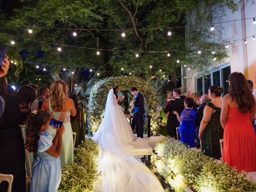
<path id="1" fill-rule="evenodd" d="M 50 101 L 52 108 L 56 110 L 64 109 L 64 102 L 67 98 L 68 86 L 62 80 L 56 80 L 50 86 Z"/>

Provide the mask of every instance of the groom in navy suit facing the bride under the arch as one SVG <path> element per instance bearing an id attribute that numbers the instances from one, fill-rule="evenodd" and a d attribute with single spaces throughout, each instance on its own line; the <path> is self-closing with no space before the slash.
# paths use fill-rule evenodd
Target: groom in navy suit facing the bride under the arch
<path id="1" fill-rule="evenodd" d="M 137 139 L 136 141 L 143 141 L 143 115 L 145 113 L 144 110 L 144 96 L 138 92 L 136 87 L 132 87 L 130 89 L 132 95 L 135 96 L 135 100 L 132 101 L 134 103 L 134 118 L 135 125 L 137 130 Z"/>

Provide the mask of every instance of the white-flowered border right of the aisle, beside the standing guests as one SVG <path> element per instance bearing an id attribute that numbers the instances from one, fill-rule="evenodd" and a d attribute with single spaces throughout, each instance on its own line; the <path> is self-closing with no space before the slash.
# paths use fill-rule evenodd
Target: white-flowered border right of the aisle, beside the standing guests
<path id="1" fill-rule="evenodd" d="M 156 144 L 155 150 L 168 168 L 176 170 L 174 173 L 182 175 L 187 186 L 192 185 L 197 192 L 256 191 L 256 182 L 246 179 L 244 172 L 240 173 L 226 163 L 219 164 L 213 158 L 191 150 L 174 138 L 164 138 Z M 167 182 L 173 183 L 171 174 L 163 173 L 162 176 Z"/>

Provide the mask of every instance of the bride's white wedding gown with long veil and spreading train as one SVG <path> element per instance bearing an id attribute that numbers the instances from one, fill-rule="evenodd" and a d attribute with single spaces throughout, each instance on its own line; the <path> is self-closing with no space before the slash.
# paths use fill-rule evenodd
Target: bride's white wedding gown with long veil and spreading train
<path id="1" fill-rule="evenodd" d="M 93 140 L 102 149 L 101 176 L 96 192 L 164 192 L 159 180 L 130 153 L 133 132 L 113 89 L 108 93 L 104 118 Z"/>

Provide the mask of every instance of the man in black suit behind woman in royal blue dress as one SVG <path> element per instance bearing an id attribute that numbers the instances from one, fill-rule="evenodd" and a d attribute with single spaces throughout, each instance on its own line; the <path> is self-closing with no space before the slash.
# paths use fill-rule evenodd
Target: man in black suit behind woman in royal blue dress
<path id="1" fill-rule="evenodd" d="M 176 114 L 173 111 L 177 111 L 180 115 L 182 110 L 184 110 L 184 101 L 180 99 L 181 91 L 179 89 L 174 89 L 173 96 L 175 100 L 170 100 L 166 108 L 164 108 L 164 113 L 170 111 L 167 120 L 167 135 L 175 137 L 177 139 L 176 127 L 179 126 L 179 122 Z"/>

